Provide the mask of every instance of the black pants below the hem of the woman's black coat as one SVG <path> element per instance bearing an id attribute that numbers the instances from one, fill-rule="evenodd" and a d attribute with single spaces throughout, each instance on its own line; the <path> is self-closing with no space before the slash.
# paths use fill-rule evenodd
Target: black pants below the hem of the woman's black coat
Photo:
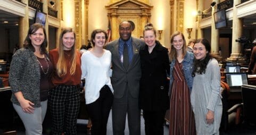
<path id="1" fill-rule="evenodd" d="M 143 110 L 143 117 L 145 121 L 146 135 L 163 135 L 164 115 L 166 110 L 159 111 L 145 111 Z"/>

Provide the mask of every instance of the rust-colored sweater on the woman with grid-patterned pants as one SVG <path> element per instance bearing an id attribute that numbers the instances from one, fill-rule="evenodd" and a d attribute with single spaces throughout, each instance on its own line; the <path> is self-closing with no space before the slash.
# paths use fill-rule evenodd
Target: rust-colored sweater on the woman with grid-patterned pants
<path id="1" fill-rule="evenodd" d="M 81 57 L 80 53 L 77 51 L 77 65 L 76 65 L 76 72 L 73 75 L 70 75 L 70 56 L 71 50 L 64 50 L 65 60 L 67 64 L 67 74 L 63 75 L 62 77 L 59 77 L 56 72 L 56 64 L 59 59 L 59 52 L 58 49 L 52 49 L 49 51 L 49 57 L 51 62 L 53 63 L 53 74 L 52 74 L 52 84 L 53 87 L 57 85 L 80 85 L 81 83 Z"/>

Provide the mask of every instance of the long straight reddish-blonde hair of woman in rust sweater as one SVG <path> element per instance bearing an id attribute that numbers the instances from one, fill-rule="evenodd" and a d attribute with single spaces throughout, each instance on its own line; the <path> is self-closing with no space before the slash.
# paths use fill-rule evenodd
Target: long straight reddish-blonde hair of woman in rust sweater
<path id="1" fill-rule="evenodd" d="M 67 64 L 65 61 L 65 56 L 64 56 L 64 50 L 63 50 L 63 41 L 62 41 L 62 37 L 65 33 L 68 32 L 73 32 L 74 37 L 75 37 L 75 41 L 74 41 L 74 45 L 71 48 L 71 67 L 70 67 L 70 74 L 73 75 L 76 72 L 76 58 L 77 58 L 77 53 L 76 53 L 76 33 L 72 28 L 63 28 L 61 35 L 60 35 L 60 41 L 59 41 L 59 60 L 57 62 L 56 65 L 56 71 L 57 74 L 59 75 L 59 77 L 67 74 Z"/>

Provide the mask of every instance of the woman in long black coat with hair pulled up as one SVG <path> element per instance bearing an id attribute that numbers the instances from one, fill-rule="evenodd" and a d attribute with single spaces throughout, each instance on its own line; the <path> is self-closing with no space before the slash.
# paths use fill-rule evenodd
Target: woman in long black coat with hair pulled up
<path id="1" fill-rule="evenodd" d="M 168 49 L 155 40 L 156 30 L 151 23 L 145 26 L 143 34 L 146 46 L 139 51 L 142 68 L 139 104 L 143 109 L 145 134 L 163 134 L 164 115 L 169 108 Z"/>

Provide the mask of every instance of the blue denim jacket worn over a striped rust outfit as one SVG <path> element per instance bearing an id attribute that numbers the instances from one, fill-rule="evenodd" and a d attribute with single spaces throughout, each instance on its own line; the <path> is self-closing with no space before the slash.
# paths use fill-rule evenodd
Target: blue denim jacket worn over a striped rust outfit
<path id="1" fill-rule="evenodd" d="M 193 77 L 192 77 L 192 72 L 193 72 L 193 60 L 194 60 L 194 55 L 191 52 L 187 52 L 184 60 L 182 62 L 183 66 L 183 73 L 185 75 L 185 79 L 189 88 L 189 92 L 191 93 L 192 90 L 192 85 L 193 85 Z M 169 96 L 171 95 L 171 88 L 172 88 L 172 81 L 174 81 L 174 78 L 172 77 L 172 70 L 174 69 L 176 59 L 171 61 L 170 64 L 170 87 L 169 87 Z"/>

